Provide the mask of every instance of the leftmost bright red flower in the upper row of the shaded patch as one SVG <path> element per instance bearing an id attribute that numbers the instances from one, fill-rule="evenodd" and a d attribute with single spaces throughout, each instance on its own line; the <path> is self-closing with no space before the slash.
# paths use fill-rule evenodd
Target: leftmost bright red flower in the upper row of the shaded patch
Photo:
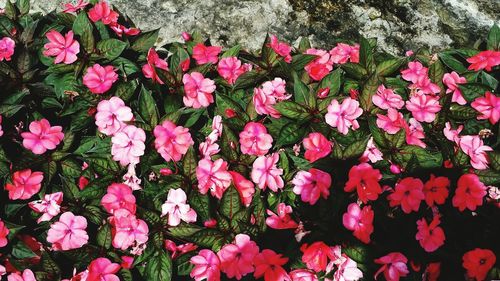
<path id="1" fill-rule="evenodd" d="M 378 169 L 373 169 L 368 163 L 353 166 L 349 170 L 349 180 L 346 182 L 344 191 L 353 192 L 357 190 L 358 197 L 363 203 L 377 200 L 382 193 L 379 181 L 382 174 Z"/>

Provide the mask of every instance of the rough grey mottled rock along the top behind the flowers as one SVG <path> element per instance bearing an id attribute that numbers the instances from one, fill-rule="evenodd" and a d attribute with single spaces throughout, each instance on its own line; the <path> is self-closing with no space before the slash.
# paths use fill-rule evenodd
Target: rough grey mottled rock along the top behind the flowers
<path id="1" fill-rule="evenodd" d="M 37 11 L 67 0 L 32 0 Z M 3 6 L 5 0 L 0 0 Z M 109 0 L 142 29 L 161 28 L 164 41 L 198 29 L 215 44 L 250 49 L 266 32 L 289 41 L 308 36 L 317 46 L 359 34 L 401 54 L 417 47 L 471 46 L 500 23 L 500 0 Z"/>

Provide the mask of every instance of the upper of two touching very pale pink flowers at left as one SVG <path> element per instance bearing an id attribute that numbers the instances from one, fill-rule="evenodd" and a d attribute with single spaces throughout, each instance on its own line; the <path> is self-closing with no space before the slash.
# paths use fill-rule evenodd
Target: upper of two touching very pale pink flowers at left
<path id="1" fill-rule="evenodd" d="M 102 100 L 97 105 L 95 124 L 99 132 L 105 135 L 113 136 L 133 119 L 132 110 L 119 97 Z"/>

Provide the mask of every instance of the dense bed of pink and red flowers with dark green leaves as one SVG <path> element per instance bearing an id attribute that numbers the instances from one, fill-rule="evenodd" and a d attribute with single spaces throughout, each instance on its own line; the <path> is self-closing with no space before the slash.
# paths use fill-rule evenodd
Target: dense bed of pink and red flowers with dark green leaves
<path id="1" fill-rule="evenodd" d="M 249 52 L 90 2 L 0 14 L 2 278 L 500 278 L 497 26 Z"/>

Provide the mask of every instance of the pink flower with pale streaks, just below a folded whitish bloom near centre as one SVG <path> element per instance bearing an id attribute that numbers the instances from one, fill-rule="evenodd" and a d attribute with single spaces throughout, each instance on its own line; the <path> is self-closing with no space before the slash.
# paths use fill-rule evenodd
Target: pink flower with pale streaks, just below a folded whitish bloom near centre
<path id="1" fill-rule="evenodd" d="M 196 178 L 198 189 L 201 194 L 207 194 L 208 190 L 212 196 L 222 198 L 224 191 L 231 185 L 231 174 L 227 171 L 227 162 L 220 158 L 215 161 L 202 159 L 196 167 Z"/>

